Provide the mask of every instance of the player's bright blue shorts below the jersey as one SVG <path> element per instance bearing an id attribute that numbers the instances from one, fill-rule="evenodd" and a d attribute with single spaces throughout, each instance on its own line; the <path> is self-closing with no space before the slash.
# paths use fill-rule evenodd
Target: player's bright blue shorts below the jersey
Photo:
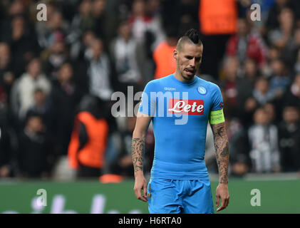
<path id="1" fill-rule="evenodd" d="M 213 214 L 210 180 L 150 179 L 150 214 Z"/>

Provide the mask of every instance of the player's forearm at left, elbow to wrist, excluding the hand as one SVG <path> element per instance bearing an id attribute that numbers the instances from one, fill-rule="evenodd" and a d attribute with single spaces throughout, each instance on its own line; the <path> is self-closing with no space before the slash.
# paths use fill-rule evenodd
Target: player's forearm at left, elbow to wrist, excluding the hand
<path id="1" fill-rule="evenodd" d="M 131 145 L 133 167 L 135 170 L 135 177 L 143 175 L 143 155 L 145 152 L 145 133 L 133 132 L 133 140 Z"/>

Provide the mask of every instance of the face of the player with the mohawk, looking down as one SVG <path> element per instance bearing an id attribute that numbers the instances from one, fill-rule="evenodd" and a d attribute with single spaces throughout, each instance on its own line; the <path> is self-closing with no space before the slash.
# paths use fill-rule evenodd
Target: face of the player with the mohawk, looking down
<path id="1" fill-rule="evenodd" d="M 177 69 L 182 79 L 191 81 L 202 61 L 203 46 L 192 43 L 184 43 L 181 50 L 174 51 L 174 57 L 177 62 Z"/>

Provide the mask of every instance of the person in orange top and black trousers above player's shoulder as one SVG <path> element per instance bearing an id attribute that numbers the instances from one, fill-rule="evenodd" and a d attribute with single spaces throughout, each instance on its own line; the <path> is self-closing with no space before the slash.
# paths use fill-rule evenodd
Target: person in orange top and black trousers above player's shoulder
<path id="1" fill-rule="evenodd" d="M 226 0 L 222 4 L 214 4 L 210 0 L 197 2 L 200 2 L 200 6 L 195 8 L 198 9 L 197 17 L 205 46 L 201 72 L 219 80 L 219 66 L 226 53 L 227 42 L 237 33 L 237 1 Z"/>

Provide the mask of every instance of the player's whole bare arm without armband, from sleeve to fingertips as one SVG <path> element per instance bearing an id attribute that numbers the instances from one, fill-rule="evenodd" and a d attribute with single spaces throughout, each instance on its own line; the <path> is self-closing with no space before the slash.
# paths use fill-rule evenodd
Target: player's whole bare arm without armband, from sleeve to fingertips
<path id="1" fill-rule="evenodd" d="M 150 120 L 150 115 L 138 113 L 135 130 L 133 131 L 133 142 L 131 145 L 133 167 L 135 170 L 135 187 L 133 190 L 135 192 L 135 196 L 145 202 L 147 202 L 147 182 L 143 173 L 143 155 L 145 152 L 146 132 Z"/>

